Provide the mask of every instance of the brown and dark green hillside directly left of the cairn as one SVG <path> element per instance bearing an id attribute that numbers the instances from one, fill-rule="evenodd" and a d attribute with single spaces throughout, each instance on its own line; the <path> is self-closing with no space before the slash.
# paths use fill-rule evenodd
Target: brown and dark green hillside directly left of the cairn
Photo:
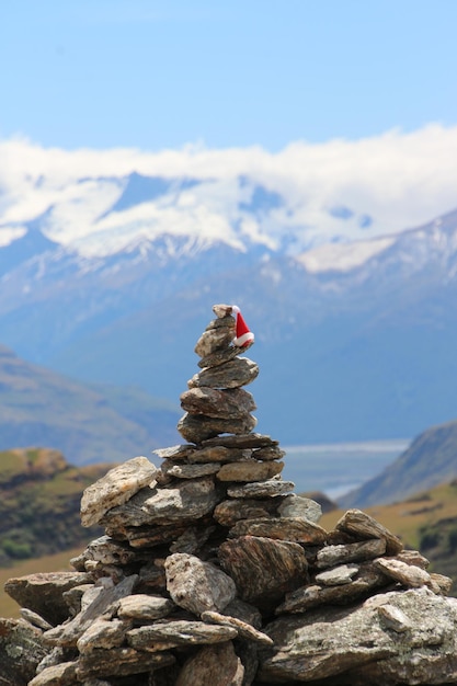
<path id="1" fill-rule="evenodd" d="M 73 467 L 49 448 L 0 451 L 0 567 L 84 545 L 82 491 L 112 465 Z"/>

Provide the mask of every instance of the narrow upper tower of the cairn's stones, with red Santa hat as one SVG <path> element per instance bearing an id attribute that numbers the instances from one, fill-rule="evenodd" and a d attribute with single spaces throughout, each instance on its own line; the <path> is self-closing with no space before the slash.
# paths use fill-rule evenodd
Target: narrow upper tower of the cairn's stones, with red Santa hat
<path id="1" fill-rule="evenodd" d="M 184 416 L 178 431 L 185 441 L 202 444 L 220 434 L 242 436 L 252 432 L 256 419 L 251 393 L 243 390 L 259 374 L 258 365 L 240 357 L 254 342 L 240 308 L 215 305 L 214 319 L 195 345 L 201 357 L 201 371 L 187 381 L 188 390 L 181 396 Z"/>

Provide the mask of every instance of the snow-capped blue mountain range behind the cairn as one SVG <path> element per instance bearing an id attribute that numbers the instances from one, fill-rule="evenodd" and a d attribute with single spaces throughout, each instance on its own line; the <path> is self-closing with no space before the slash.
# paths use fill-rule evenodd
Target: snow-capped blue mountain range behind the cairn
<path id="1" fill-rule="evenodd" d="M 1 343 L 178 404 L 212 305 L 237 302 L 255 332 L 258 430 L 282 443 L 410 437 L 457 416 L 457 210 L 382 235 L 333 205 L 320 240 L 279 186 L 134 172 L 52 195 L 35 180 L 26 217 L 0 214 Z"/>

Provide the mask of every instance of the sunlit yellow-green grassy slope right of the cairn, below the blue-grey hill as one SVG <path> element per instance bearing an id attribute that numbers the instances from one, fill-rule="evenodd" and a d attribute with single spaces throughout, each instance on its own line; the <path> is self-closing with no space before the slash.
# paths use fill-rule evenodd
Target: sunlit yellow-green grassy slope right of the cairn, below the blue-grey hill
<path id="1" fill-rule="evenodd" d="M 395 504 L 363 510 L 397 534 L 407 548 L 420 550 L 431 561 L 431 571 L 450 576 L 452 594 L 457 595 L 457 480 Z M 320 524 L 332 529 L 344 512 L 329 512 Z"/>

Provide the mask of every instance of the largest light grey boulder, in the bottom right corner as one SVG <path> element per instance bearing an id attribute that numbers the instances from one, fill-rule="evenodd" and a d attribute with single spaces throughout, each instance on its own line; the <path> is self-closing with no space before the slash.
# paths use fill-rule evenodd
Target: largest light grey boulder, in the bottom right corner
<path id="1" fill-rule="evenodd" d="M 386 627 L 377 607 L 369 603 L 275 620 L 265 629 L 275 647 L 262 651 L 261 681 L 332 678 L 339 683 L 335 677 L 346 672 L 350 681 L 344 683 L 356 686 L 445 684 L 455 679 L 456 603 L 425 588 L 389 593 L 386 602 L 408 617 L 409 631 Z"/>

